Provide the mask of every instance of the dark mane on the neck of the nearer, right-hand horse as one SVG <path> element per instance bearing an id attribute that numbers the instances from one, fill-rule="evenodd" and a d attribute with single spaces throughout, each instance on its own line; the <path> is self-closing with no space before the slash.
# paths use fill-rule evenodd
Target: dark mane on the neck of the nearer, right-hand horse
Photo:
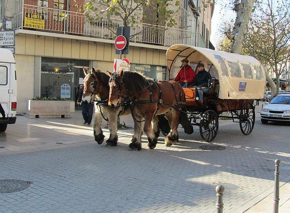
<path id="1" fill-rule="evenodd" d="M 125 71 L 123 73 L 123 83 L 125 88 L 132 92 L 138 93 L 152 83 L 153 89 L 157 88 L 152 78 L 145 77 L 142 73 L 136 71 Z"/>

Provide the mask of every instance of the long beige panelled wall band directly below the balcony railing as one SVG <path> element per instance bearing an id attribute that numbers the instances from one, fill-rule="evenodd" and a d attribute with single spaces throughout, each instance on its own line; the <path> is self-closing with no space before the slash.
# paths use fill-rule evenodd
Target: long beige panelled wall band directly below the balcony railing
<path id="1" fill-rule="evenodd" d="M 114 44 L 60 39 L 57 37 L 20 34 L 15 37 L 15 53 L 58 58 L 113 62 L 119 58 Z M 126 57 L 131 63 L 165 66 L 165 50 L 130 47 Z"/>

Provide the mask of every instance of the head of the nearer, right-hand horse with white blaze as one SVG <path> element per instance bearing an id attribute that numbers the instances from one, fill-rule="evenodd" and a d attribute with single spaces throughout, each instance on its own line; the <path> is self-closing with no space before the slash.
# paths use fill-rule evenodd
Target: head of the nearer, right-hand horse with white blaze
<path id="1" fill-rule="evenodd" d="M 125 99 L 126 88 L 123 83 L 123 71 L 119 73 L 111 73 L 109 80 L 110 95 L 109 95 L 109 105 L 112 107 L 119 107 Z"/>

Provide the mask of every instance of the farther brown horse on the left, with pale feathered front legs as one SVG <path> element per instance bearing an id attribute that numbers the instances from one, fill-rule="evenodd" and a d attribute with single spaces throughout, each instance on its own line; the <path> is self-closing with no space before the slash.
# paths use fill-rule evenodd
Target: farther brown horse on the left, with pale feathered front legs
<path id="1" fill-rule="evenodd" d="M 109 119 L 110 138 L 106 141 L 108 146 L 116 146 L 118 141 L 117 135 L 117 118 L 121 115 L 130 114 L 130 110 L 124 107 L 112 108 L 107 104 L 109 98 L 109 76 L 100 70 L 92 68 L 91 73 L 83 68 L 86 77 L 84 78 L 84 92 L 82 101 L 92 102 L 95 97 L 98 99 L 99 105 L 95 105 L 95 115 L 93 118 L 93 128 L 95 141 L 101 144 L 104 141 L 103 131 L 101 129 L 101 120 Z"/>

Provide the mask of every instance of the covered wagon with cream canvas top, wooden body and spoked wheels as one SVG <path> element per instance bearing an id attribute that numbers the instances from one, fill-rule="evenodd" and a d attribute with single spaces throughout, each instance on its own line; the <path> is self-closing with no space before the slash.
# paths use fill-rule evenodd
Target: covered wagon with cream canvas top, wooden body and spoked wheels
<path id="1" fill-rule="evenodd" d="M 265 71 L 251 56 L 173 45 L 166 53 L 169 77 L 179 70 L 180 60 L 186 58 L 191 66 L 203 63 L 211 74 L 207 87 L 183 88 L 186 94 L 186 113 L 193 125 L 199 126 L 202 139 L 211 142 L 217 136 L 218 118 L 239 122 L 244 135 L 255 124 L 255 99 L 261 99 L 265 89 Z M 203 102 L 198 96 L 203 92 Z M 225 113 L 227 112 L 227 113 Z"/>

